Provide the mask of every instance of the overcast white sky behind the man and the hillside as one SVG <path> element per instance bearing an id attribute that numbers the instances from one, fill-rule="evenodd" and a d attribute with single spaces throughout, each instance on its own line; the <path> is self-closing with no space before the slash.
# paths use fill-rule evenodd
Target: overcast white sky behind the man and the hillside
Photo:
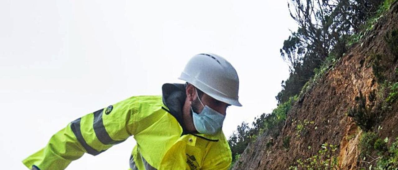
<path id="1" fill-rule="evenodd" d="M 286 0 L 0 2 L 0 160 L 21 160 L 70 121 L 133 95 L 160 95 L 191 56 L 226 58 L 243 107 L 227 110 L 228 137 L 269 113 L 288 67 L 279 49 L 297 25 Z M 127 169 L 134 139 L 67 169 Z"/>

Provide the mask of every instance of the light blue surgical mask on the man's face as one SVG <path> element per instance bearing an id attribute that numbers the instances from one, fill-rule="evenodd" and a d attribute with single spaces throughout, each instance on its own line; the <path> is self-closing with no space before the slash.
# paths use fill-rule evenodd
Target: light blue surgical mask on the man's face
<path id="1" fill-rule="evenodd" d="M 196 90 L 196 89 L 195 89 Z M 196 91 L 196 94 L 197 91 Z M 203 105 L 202 101 L 200 100 L 200 97 L 197 95 L 199 101 Z M 216 110 L 210 108 L 209 106 L 203 105 L 203 110 L 200 112 L 200 114 L 197 114 L 196 112 L 193 111 L 192 106 L 192 117 L 193 117 L 193 125 L 195 125 L 196 130 L 199 133 L 203 134 L 215 134 L 217 133 L 221 127 L 222 127 L 222 122 L 224 122 L 225 116 L 217 112 Z"/>

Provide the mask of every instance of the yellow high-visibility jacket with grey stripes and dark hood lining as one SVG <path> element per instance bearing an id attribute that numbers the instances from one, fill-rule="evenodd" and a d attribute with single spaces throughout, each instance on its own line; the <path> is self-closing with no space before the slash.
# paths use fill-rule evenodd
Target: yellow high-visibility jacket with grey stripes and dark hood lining
<path id="1" fill-rule="evenodd" d="M 131 97 L 70 122 L 23 164 L 33 170 L 62 170 L 84 153 L 98 155 L 133 135 L 132 170 L 227 169 L 232 156 L 222 130 L 188 133 L 181 113 L 184 85 L 166 83 L 162 91 L 162 96 Z"/>

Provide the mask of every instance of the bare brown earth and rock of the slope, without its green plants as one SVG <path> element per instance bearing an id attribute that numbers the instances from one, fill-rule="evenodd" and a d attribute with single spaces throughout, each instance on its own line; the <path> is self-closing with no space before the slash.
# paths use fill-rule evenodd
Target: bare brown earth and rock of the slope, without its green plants
<path id="1" fill-rule="evenodd" d="M 341 169 L 357 169 L 357 146 L 362 130 L 346 114 L 355 105 L 359 92 L 365 97 L 378 92 L 378 79 L 371 66 L 373 55 L 382 55 L 382 74 L 394 76 L 398 62 L 394 61 L 384 39 L 387 31 L 393 29 L 398 29 L 398 3 L 391 6 L 388 14 L 379 19 L 367 37 L 353 46 L 334 69 L 298 99 L 289 111 L 280 135 L 275 139 L 266 134 L 260 136 L 248 145 L 233 169 L 289 169 L 297 159 L 316 155 L 323 143 L 338 145 L 336 156 L 339 156 Z M 366 102 L 374 110 L 380 101 L 372 102 L 367 97 Z M 381 122 L 373 127 L 383 126 L 379 130 L 382 137 L 397 137 L 397 111 L 398 106 L 394 104 L 392 110 L 384 112 Z M 304 132 L 298 133 L 297 124 L 304 120 L 312 123 L 304 127 Z M 286 137 L 290 137 L 289 149 L 283 147 Z M 270 141 L 273 143 L 271 146 Z"/>

